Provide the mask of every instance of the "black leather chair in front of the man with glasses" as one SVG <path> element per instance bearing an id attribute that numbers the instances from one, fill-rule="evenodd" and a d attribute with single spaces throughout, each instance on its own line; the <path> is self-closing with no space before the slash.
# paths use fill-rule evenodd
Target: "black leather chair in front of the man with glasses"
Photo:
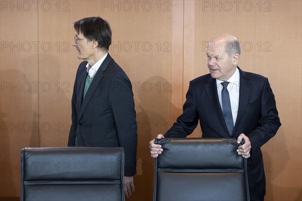
<path id="1" fill-rule="evenodd" d="M 21 201 L 125 200 L 122 148 L 21 150 Z"/>

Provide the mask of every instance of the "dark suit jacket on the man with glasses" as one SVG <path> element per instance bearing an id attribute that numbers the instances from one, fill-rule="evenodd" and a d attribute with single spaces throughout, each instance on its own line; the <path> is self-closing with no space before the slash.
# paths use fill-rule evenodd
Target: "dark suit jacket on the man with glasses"
<path id="1" fill-rule="evenodd" d="M 123 147 L 125 176 L 133 176 L 137 132 L 131 82 L 108 54 L 83 98 L 86 64 L 87 61 L 80 64 L 74 82 L 68 146 Z"/>

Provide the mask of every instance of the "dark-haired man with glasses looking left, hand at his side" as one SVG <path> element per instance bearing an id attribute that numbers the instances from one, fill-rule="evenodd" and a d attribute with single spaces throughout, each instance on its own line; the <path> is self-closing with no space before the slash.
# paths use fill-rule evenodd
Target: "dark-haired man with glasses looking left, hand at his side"
<path id="1" fill-rule="evenodd" d="M 84 18 L 73 26 L 72 45 L 78 51 L 78 58 L 84 61 L 79 66 L 73 87 L 68 146 L 122 147 L 125 154 L 124 191 L 129 197 L 134 191 L 137 147 L 131 82 L 108 53 L 111 29 L 105 20 Z"/>

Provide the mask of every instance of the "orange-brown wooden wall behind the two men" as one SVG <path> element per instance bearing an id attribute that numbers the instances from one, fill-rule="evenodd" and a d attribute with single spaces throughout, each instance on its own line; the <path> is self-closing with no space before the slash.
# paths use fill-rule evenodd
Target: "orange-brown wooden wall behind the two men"
<path id="1" fill-rule="evenodd" d="M 20 149 L 66 146 L 78 65 L 72 23 L 100 16 L 129 76 L 138 123 L 135 192 L 152 200 L 148 142 L 182 112 L 189 81 L 208 73 L 206 43 L 231 33 L 239 66 L 269 78 L 282 126 L 262 148 L 265 200 L 302 200 L 302 1 L 0 1 L 0 200 L 20 198 Z M 201 137 L 197 128 L 192 137 Z M 41 167 L 38 167 L 41 168 Z M 57 166 L 52 167 L 57 168 Z"/>

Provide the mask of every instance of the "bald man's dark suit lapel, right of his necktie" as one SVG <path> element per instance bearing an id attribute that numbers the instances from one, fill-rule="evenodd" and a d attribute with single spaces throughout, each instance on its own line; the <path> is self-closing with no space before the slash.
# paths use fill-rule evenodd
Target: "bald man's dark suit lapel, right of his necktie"
<path id="1" fill-rule="evenodd" d="M 240 73 L 239 106 L 233 132 L 238 129 L 238 126 L 240 126 L 240 119 L 242 119 L 242 115 L 244 114 L 246 105 L 249 102 L 250 94 L 253 88 L 253 85 L 249 82 L 250 78 L 247 76 L 247 74 L 240 68 L 238 69 Z"/>

